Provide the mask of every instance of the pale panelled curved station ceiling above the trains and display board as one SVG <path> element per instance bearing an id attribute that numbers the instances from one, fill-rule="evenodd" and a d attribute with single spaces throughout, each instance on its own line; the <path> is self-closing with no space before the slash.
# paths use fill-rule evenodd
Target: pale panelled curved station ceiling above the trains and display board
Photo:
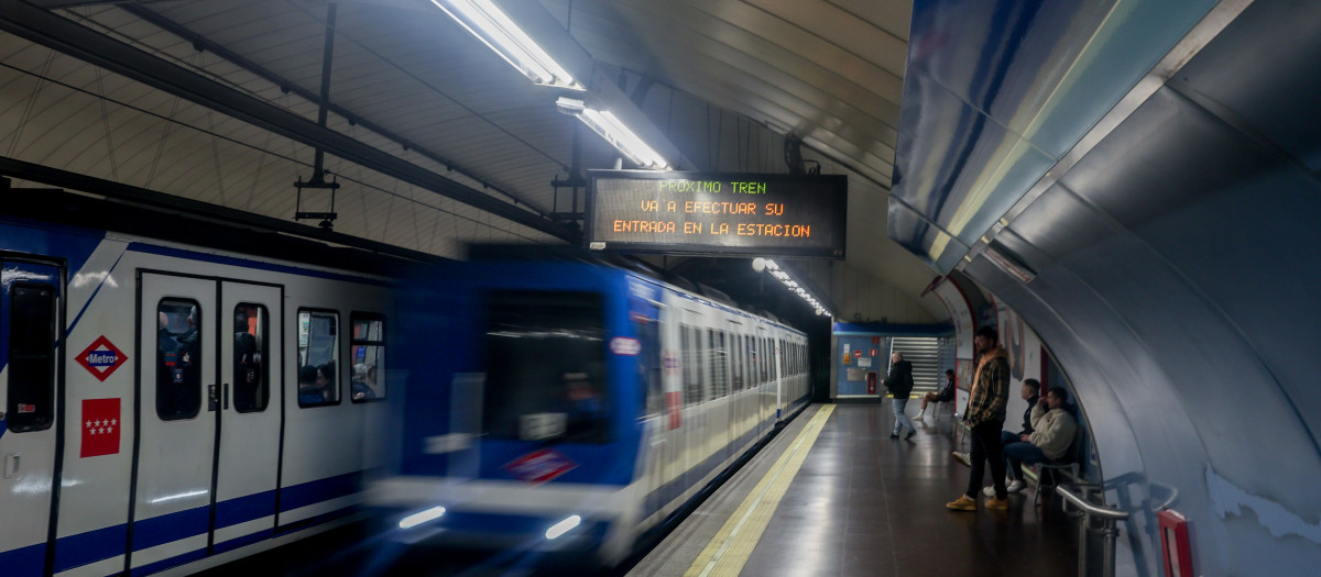
<path id="1" fill-rule="evenodd" d="M 164 61 L 180 78 L 317 119 L 325 1 L 32 4 Z M 900 306 L 890 316 L 900 320 L 947 316 L 921 296 L 931 271 L 885 236 L 909 3 L 501 4 L 557 22 L 590 57 L 593 76 L 633 97 L 694 169 L 783 173 L 785 138 L 801 141 L 810 166 L 851 180 L 848 258 L 806 274 L 827 287 L 844 278 L 893 291 Z M 458 258 L 473 242 L 575 242 L 581 191 L 575 204 L 572 188 L 551 186 L 569 179 L 575 161 L 579 123 L 555 109 L 564 92 L 531 86 L 427 0 L 334 5 L 326 129 L 413 166 L 328 150 L 326 169 L 345 184 L 337 232 Z M 291 184 L 310 175 L 310 137 L 254 128 L 242 112 L 217 113 L 112 67 L 81 65 L 15 20 L 0 36 L 0 83 L 11 95 L 0 112 L 17 126 L 0 134 L 7 158 L 272 217 L 293 212 Z M 82 112 L 54 119 L 70 107 Z M 584 169 L 613 165 L 613 150 L 590 133 L 580 146 Z"/>

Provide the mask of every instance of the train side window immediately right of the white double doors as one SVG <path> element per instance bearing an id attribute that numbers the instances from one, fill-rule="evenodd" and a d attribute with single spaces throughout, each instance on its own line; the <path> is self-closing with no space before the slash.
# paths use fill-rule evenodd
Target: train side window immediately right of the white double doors
<path id="1" fill-rule="evenodd" d="M 299 310 L 299 406 L 339 402 L 339 314 Z"/>

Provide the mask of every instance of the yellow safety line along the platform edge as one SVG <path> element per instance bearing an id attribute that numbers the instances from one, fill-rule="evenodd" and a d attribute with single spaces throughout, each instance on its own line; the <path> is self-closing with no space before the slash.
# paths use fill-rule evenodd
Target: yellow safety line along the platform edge
<path id="1" fill-rule="evenodd" d="M 752 549 L 757 547 L 762 531 L 770 523 L 770 516 L 779 506 L 779 499 L 785 497 L 789 483 L 798 474 L 798 469 L 803 466 L 807 452 L 816 443 L 816 436 L 820 435 L 822 427 L 826 426 L 826 420 L 834 411 L 834 404 L 826 404 L 816 411 L 812 420 L 798 433 L 793 447 L 779 456 L 770 472 L 738 505 L 738 508 L 729 516 L 724 527 L 720 527 L 701 555 L 692 561 L 692 566 L 683 573 L 684 577 L 736 577 L 742 570 L 748 557 L 752 556 Z"/>

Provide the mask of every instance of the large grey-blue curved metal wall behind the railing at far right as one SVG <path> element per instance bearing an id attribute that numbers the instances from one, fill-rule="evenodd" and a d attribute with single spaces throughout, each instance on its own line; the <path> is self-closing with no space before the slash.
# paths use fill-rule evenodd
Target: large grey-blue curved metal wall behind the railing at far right
<path id="1" fill-rule="evenodd" d="M 1321 113 L 1299 90 L 1318 38 L 1321 5 L 1254 3 L 995 238 L 1034 279 L 964 270 L 1077 386 L 1107 499 L 1133 515 L 1119 574 L 1161 574 L 1166 502 L 1194 574 L 1321 560 Z"/>

